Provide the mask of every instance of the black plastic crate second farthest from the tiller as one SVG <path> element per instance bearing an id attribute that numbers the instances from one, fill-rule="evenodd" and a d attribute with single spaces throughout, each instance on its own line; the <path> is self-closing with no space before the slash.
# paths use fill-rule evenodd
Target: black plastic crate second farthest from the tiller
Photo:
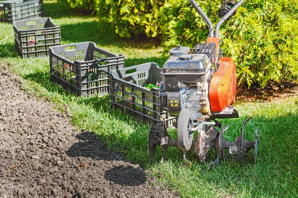
<path id="1" fill-rule="evenodd" d="M 22 58 L 45 57 L 61 45 L 60 26 L 50 17 L 13 21 L 15 48 Z"/>

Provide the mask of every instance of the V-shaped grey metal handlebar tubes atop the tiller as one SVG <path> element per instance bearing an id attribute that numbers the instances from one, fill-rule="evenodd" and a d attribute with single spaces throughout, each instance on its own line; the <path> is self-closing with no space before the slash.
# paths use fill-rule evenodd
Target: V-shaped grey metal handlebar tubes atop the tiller
<path id="1" fill-rule="evenodd" d="M 212 22 L 210 21 L 210 19 L 208 18 L 208 16 L 205 14 L 205 12 L 201 9 L 201 7 L 198 5 L 198 3 L 195 0 L 189 0 L 189 2 L 193 5 L 193 7 L 197 10 L 197 12 L 200 14 L 200 16 L 202 17 L 202 19 L 205 21 L 205 23 L 207 24 L 208 28 L 209 28 L 209 36 L 210 38 L 218 38 L 219 37 L 219 32 L 220 32 L 220 27 L 221 25 L 224 23 L 224 21 L 226 21 L 232 14 L 234 11 L 236 11 L 236 9 L 244 2 L 245 0 L 239 0 L 225 15 L 223 18 L 221 18 L 221 20 L 219 20 L 219 22 L 213 27 Z"/>

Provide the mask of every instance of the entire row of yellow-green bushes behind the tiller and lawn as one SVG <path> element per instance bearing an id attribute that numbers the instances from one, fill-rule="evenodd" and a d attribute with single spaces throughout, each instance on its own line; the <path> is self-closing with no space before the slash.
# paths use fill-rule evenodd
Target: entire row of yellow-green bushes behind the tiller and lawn
<path id="1" fill-rule="evenodd" d="M 188 0 L 61 0 L 70 7 L 92 8 L 120 37 L 146 34 L 161 47 L 192 47 L 204 42 L 208 29 Z M 219 18 L 220 0 L 197 1 L 211 21 Z M 222 25 L 224 56 L 234 59 L 239 84 L 298 78 L 298 1 L 246 0 Z"/>

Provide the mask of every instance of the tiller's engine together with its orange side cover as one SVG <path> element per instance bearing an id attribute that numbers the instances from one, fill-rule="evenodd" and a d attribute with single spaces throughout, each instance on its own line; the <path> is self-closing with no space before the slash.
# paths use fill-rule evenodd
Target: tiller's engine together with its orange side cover
<path id="1" fill-rule="evenodd" d="M 232 114 L 234 109 L 226 107 L 235 101 L 235 64 L 226 57 L 215 63 L 215 52 L 215 43 L 198 44 L 192 54 L 187 47 L 177 46 L 170 50 L 171 56 L 161 72 L 163 85 L 159 97 L 163 110 L 179 116 L 182 109 L 189 109 L 193 119 L 198 121 L 212 114 L 218 118 Z M 218 66 L 217 71 L 213 65 Z"/>

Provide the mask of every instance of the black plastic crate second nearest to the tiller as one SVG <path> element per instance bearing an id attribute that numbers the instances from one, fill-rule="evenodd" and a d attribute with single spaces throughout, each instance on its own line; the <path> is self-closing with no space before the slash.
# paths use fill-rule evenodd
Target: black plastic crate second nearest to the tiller
<path id="1" fill-rule="evenodd" d="M 109 93 L 109 70 L 124 67 L 119 56 L 84 42 L 50 48 L 51 81 L 77 96 Z"/>

